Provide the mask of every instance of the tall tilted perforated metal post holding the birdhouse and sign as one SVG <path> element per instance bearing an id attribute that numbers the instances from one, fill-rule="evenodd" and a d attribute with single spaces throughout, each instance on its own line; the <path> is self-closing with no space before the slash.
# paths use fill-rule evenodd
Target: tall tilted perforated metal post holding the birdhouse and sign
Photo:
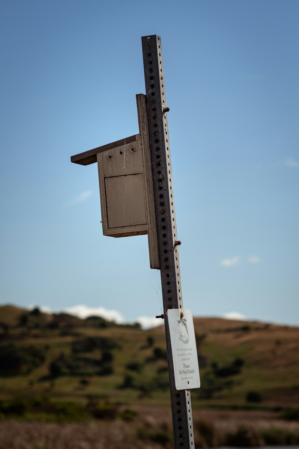
<path id="1" fill-rule="evenodd" d="M 174 447 L 176 449 L 182 447 L 194 448 L 190 391 L 178 391 L 175 387 L 167 317 L 167 311 L 169 309 L 180 309 L 183 305 L 167 125 L 168 108 L 166 108 L 160 36 L 152 35 L 142 37 L 142 49 L 169 367 Z"/>

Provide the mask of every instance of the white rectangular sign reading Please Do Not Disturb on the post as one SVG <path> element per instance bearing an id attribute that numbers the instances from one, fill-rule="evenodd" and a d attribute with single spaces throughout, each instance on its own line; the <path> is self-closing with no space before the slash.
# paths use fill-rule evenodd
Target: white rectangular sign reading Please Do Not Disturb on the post
<path id="1" fill-rule="evenodd" d="M 199 388 L 199 367 L 195 333 L 190 309 L 169 309 L 167 312 L 177 390 Z"/>

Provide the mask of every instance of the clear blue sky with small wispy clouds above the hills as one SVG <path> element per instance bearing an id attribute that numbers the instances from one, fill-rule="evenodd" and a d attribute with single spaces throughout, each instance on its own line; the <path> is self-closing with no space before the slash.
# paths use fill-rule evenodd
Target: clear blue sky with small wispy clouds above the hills
<path id="1" fill-rule="evenodd" d="M 3 0 L 0 16 L 1 304 L 161 313 L 147 237 L 104 237 L 96 164 L 70 163 L 138 133 L 141 36 L 158 34 L 184 307 L 299 325 L 298 1 Z"/>

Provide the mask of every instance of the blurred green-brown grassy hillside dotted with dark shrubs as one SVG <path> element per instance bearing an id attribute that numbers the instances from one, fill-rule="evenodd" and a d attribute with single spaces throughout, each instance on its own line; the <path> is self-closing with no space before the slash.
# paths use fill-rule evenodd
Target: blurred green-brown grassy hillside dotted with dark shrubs
<path id="1" fill-rule="evenodd" d="M 193 408 L 298 404 L 299 328 L 217 318 L 194 326 L 202 387 Z M 17 396 L 168 407 L 164 329 L 0 307 L 0 398 Z"/>

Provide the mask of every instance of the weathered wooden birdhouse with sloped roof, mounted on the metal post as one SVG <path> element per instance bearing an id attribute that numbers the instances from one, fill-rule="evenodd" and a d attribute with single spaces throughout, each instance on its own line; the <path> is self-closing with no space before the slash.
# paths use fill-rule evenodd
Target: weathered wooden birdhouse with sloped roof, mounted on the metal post
<path id="1" fill-rule="evenodd" d="M 151 268 L 160 268 L 152 185 L 146 96 L 136 95 L 139 134 L 72 156 L 74 163 L 98 163 L 103 234 L 148 234 Z"/>

